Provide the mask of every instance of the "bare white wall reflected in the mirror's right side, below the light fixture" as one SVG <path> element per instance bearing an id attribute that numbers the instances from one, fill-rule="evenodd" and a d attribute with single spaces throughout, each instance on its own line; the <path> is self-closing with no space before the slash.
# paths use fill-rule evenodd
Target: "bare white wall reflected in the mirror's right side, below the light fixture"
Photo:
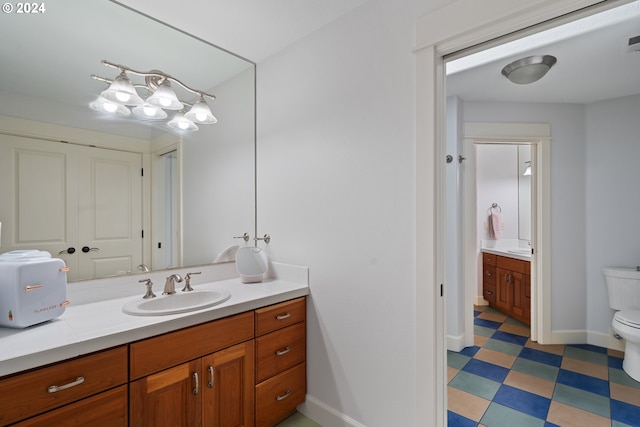
<path id="1" fill-rule="evenodd" d="M 234 236 L 253 236 L 253 85 L 250 69 L 213 88 L 209 105 L 218 123 L 184 136 L 183 265 L 210 263 L 244 244 Z"/>

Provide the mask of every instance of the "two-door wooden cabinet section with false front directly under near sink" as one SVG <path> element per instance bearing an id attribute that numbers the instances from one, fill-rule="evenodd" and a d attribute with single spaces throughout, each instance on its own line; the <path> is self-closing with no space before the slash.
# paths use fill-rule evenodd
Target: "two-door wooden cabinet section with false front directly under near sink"
<path id="1" fill-rule="evenodd" d="M 253 328 L 248 312 L 130 344 L 130 425 L 252 427 Z"/>

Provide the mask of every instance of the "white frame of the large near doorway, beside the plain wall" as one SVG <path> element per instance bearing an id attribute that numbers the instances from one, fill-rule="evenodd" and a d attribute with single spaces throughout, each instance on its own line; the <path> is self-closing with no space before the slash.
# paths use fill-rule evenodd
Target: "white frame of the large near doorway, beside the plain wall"
<path id="1" fill-rule="evenodd" d="M 552 28 L 632 0 L 457 0 L 416 22 L 416 425 L 447 423 L 445 56 Z M 582 10 L 588 8 L 588 10 Z M 575 13 L 580 11 L 580 13 Z M 554 20 L 551 22 L 551 20 Z M 544 24 L 543 24 L 544 23 Z M 535 27 L 535 28 L 534 28 Z M 518 34 L 514 34 L 519 32 Z M 487 46 L 483 46 L 482 49 Z"/>

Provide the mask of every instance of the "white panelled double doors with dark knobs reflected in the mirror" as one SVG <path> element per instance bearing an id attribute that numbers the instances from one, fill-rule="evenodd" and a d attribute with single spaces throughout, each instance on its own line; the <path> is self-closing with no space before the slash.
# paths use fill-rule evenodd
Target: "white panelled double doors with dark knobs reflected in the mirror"
<path id="1" fill-rule="evenodd" d="M 48 251 L 69 280 L 134 271 L 141 164 L 140 154 L 0 135 L 0 251 Z"/>

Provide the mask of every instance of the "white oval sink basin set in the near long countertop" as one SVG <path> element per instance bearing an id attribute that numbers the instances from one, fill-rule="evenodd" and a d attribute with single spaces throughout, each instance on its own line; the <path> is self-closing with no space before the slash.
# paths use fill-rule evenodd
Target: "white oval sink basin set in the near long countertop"
<path id="1" fill-rule="evenodd" d="M 133 316 L 163 316 L 213 307 L 229 298 L 231 294 L 226 290 L 177 292 L 150 299 L 140 297 L 126 303 L 122 311 Z"/>

